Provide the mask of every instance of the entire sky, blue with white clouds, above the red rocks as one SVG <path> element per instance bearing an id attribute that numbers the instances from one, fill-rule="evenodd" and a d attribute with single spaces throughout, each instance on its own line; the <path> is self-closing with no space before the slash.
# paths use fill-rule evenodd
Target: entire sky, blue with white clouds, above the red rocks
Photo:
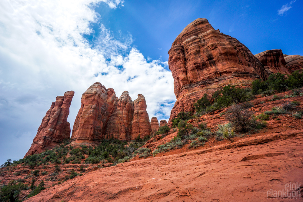
<path id="1" fill-rule="evenodd" d="M 94 82 L 168 120 L 175 102 L 168 50 L 183 28 L 207 18 L 253 54 L 303 55 L 302 0 L 0 2 L 0 164 L 29 149 L 56 96 L 74 90 L 68 121 Z"/>

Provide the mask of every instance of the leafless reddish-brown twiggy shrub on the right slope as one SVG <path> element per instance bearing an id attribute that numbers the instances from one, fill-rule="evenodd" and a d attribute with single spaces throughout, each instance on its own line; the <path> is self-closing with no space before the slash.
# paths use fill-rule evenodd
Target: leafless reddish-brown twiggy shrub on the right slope
<path id="1" fill-rule="evenodd" d="M 251 117 L 254 114 L 248 109 L 244 109 L 244 104 L 237 104 L 229 107 L 228 114 L 225 114 L 225 119 L 230 121 L 230 124 L 237 131 L 247 131 L 251 123 Z"/>

